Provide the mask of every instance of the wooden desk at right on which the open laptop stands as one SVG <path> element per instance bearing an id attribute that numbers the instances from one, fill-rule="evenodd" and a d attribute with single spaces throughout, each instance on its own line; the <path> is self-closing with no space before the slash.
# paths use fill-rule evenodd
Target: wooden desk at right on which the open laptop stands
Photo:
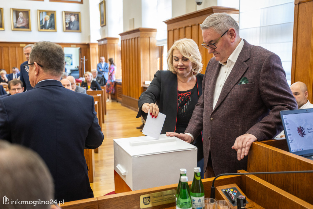
<path id="1" fill-rule="evenodd" d="M 286 146 L 285 139 L 253 142 L 248 154 L 248 172 L 313 170 L 313 160 L 287 152 Z M 256 176 L 313 204 L 312 173 Z"/>

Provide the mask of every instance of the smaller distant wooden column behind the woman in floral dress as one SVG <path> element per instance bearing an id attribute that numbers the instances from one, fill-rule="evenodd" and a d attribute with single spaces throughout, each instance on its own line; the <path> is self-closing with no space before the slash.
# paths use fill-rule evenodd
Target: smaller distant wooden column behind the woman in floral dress
<path id="1" fill-rule="evenodd" d="M 109 58 L 113 58 L 116 65 L 115 78 L 122 78 L 121 70 L 121 47 L 118 46 L 119 38 L 106 37 L 98 40 L 99 56 L 97 57 L 97 63 L 99 63 L 100 56 L 105 57 L 105 62 L 109 63 Z"/>

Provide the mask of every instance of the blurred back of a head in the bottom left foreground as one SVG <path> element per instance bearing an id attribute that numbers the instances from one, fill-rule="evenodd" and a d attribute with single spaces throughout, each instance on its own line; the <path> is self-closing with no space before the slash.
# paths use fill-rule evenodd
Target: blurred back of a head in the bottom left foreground
<path id="1" fill-rule="evenodd" d="M 49 209 L 53 199 L 53 179 L 47 165 L 33 150 L 0 140 L 0 207 Z M 18 189 L 17 189 L 18 188 Z M 13 205 L 13 201 L 33 204 Z M 36 202 L 40 200 L 40 203 Z M 44 201 L 44 204 L 42 204 Z M 49 204 L 46 204 L 46 201 Z M 3 205 L 2 205 L 3 203 Z"/>

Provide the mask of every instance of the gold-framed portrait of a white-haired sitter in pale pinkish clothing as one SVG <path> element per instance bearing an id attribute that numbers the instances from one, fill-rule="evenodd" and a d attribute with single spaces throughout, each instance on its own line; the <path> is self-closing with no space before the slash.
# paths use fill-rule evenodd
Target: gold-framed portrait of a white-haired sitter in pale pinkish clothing
<path id="1" fill-rule="evenodd" d="M 11 8 L 11 29 L 32 31 L 30 21 L 30 9 Z"/>

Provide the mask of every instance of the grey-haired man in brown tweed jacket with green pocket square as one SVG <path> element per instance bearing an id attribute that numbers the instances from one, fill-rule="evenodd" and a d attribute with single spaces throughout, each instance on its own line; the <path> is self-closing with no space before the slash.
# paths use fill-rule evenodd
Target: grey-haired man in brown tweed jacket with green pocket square
<path id="1" fill-rule="evenodd" d="M 297 109 L 280 58 L 239 37 L 237 22 L 214 13 L 202 24 L 202 46 L 213 53 L 202 82 L 202 95 L 185 134 L 187 142 L 203 130 L 206 177 L 247 170 L 252 142 L 282 130 L 281 110 Z"/>

